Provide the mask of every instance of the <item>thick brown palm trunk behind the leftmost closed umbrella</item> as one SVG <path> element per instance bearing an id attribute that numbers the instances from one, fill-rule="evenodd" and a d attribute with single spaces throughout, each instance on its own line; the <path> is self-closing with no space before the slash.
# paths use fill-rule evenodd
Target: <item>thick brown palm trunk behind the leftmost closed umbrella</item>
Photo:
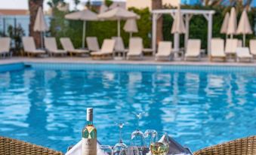
<path id="1" fill-rule="evenodd" d="M 29 0 L 29 35 L 35 39 L 35 44 L 37 47 L 40 46 L 41 37 L 40 32 L 34 32 L 35 17 L 39 8 L 43 6 L 43 2 L 44 0 Z"/>

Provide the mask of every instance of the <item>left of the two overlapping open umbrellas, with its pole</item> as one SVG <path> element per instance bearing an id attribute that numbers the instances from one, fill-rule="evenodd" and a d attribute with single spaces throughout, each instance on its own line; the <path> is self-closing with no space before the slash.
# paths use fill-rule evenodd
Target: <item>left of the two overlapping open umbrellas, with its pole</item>
<path id="1" fill-rule="evenodd" d="M 66 14 L 65 18 L 67 20 L 82 20 L 82 21 L 84 21 L 83 33 L 82 33 L 82 48 L 85 48 L 86 21 L 96 21 L 97 14 L 95 14 L 94 12 L 92 12 L 88 9 L 85 9 L 83 11 Z"/>

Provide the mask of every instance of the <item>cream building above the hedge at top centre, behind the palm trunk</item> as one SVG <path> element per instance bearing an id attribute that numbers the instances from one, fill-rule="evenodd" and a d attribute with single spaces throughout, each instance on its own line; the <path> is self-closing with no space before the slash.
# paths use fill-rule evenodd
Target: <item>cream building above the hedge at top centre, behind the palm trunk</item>
<path id="1" fill-rule="evenodd" d="M 163 5 L 177 6 L 180 0 L 162 0 Z M 152 10 L 152 0 L 126 0 L 126 8 L 150 8 Z"/>

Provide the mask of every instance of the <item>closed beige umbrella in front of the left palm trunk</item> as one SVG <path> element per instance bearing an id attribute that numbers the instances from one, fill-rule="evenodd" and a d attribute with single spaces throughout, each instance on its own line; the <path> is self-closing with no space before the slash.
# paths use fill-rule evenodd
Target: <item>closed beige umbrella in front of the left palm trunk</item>
<path id="1" fill-rule="evenodd" d="M 34 25 L 34 31 L 35 32 L 41 32 L 41 47 L 44 47 L 43 44 L 43 32 L 46 32 L 49 30 L 49 27 L 45 21 L 45 15 L 42 11 L 42 7 L 39 8 L 37 11 L 36 17 L 35 17 L 35 25 Z"/>

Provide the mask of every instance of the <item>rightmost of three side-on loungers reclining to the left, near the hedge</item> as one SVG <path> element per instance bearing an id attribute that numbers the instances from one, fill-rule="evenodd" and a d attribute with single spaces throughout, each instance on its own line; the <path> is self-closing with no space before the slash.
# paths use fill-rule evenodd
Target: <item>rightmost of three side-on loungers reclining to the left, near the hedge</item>
<path id="1" fill-rule="evenodd" d="M 82 55 L 88 53 L 88 50 L 75 49 L 72 42 L 70 41 L 70 38 L 60 38 L 60 43 L 63 49 L 70 53 L 70 56 L 72 56 L 72 54 Z"/>

